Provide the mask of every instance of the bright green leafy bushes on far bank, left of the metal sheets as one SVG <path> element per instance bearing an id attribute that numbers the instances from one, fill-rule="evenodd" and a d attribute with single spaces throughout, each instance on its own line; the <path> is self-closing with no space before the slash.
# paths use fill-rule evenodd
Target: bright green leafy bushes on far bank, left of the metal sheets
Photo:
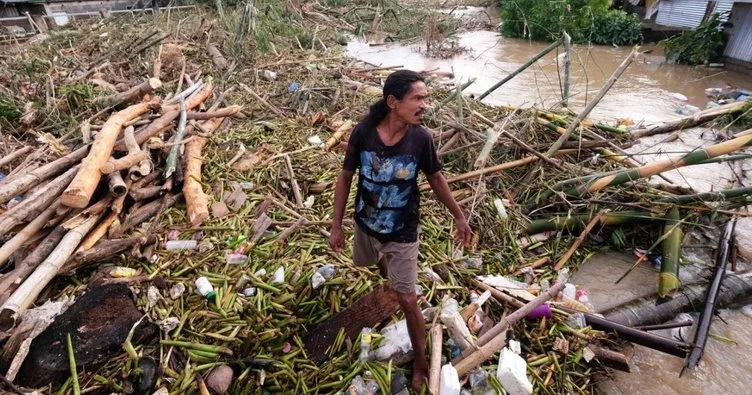
<path id="1" fill-rule="evenodd" d="M 576 43 L 628 45 L 642 41 L 640 21 L 609 10 L 611 0 L 500 0 L 502 33 L 553 41 L 566 31 Z"/>

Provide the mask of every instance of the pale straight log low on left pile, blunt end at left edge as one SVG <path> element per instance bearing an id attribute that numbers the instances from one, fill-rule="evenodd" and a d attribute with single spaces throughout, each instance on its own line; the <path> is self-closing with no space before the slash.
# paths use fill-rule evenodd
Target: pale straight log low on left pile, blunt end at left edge
<path id="1" fill-rule="evenodd" d="M 89 217 L 81 225 L 68 231 L 47 259 L 40 263 L 16 292 L 5 301 L 0 308 L 0 330 L 7 331 L 15 327 L 18 317 L 34 303 L 44 287 L 55 278 L 60 267 L 73 254 L 81 239 L 94 227 L 99 217 L 99 215 Z"/>

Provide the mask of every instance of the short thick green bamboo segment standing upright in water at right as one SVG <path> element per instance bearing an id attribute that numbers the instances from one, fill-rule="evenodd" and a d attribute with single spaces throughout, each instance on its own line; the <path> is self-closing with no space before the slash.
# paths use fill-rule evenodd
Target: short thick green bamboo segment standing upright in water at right
<path id="1" fill-rule="evenodd" d="M 663 240 L 663 259 L 661 260 L 661 275 L 658 279 L 658 296 L 673 298 L 679 290 L 679 261 L 681 260 L 682 230 L 679 226 L 679 208 L 672 207 L 663 224 L 664 235 L 670 234 Z"/>

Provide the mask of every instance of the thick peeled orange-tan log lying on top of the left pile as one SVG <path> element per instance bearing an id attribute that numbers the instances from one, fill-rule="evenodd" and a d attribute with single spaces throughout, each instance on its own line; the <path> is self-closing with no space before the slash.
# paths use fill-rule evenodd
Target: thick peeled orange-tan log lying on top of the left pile
<path id="1" fill-rule="evenodd" d="M 89 155 L 81 162 L 81 169 L 76 174 L 76 178 L 63 192 L 63 204 L 75 208 L 84 208 L 89 204 L 91 195 L 102 178 L 99 169 L 112 155 L 112 148 L 123 128 L 123 124 L 147 112 L 158 103 L 159 99 L 154 99 L 148 103 L 134 104 L 112 115 L 105 122 L 104 127 L 91 145 Z"/>

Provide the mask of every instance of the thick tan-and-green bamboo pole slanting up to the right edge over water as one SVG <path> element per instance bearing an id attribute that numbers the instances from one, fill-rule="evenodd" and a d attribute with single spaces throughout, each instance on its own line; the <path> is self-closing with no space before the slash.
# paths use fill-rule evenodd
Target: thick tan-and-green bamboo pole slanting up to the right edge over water
<path id="1" fill-rule="evenodd" d="M 752 129 L 743 133 L 746 132 L 752 132 Z M 615 174 L 600 177 L 594 180 L 589 186 L 587 186 L 587 188 L 579 188 L 578 192 L 580 194 L 583 194 L 586 191 L 591 193 L 597 192 L 605 187 L 619 185 L 628 181 L 634 181 L 669 170 L 678 169 L 683 166 L 693 165 L 700 161 L 738 151 L 750 145 L 752 145 L 752 134 L 745 134 L 741 137 L 724 141 L 707 148 L 697 149 L 685 155 L 674 156 L 672 158 L 651 162 L 635 169 L 626 169 Z"/>

